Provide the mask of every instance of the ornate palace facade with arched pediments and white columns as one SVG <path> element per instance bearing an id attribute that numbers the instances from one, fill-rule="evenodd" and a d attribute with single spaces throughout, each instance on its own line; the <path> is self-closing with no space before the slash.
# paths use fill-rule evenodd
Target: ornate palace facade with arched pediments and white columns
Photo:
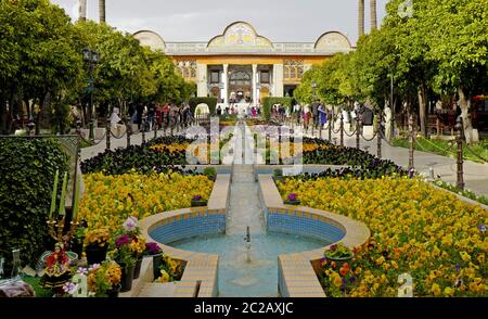
<path id="1" fill-rule="evenodd" d="M 166 42 L 150 30 L 134 37 L 171 56 L 182 76 L 196 82 L 198 97 L 216 97 L 220 103 L 292 95 L 311 65 L 352 50 L 337 31 L 325 33 L 316 42 L 271 42 L 245 22 L 229 25 L 208 42 Z"/>

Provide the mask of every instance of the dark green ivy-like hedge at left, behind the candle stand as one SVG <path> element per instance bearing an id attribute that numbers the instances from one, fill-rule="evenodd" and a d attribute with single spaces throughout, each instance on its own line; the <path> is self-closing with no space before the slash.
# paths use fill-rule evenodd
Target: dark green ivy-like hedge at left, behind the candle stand
<path id="1" fill-rule="evenodd" d="M 13 248 L 24 265 L 46 248 L 54 176 L 67 170 L 68 156 L 52 139 L 8 138 L 0 139 L 0 256 L 10 276 Z"/>

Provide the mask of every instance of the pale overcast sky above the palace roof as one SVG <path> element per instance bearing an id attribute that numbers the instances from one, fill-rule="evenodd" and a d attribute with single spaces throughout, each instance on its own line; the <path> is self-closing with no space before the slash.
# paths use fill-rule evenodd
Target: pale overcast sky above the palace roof
<path id="1" fill-rule="evenodd" d="M 51 0 L 73 17 L 77 0 Z M 88 18 L 99 20 L 99 0 L 87 0 Z M 370 29 L 365 0 L 365 30 Z M 378 22 L 388 0 L 377 0 Z M 313 42 L 330 30 L 358 38 L 358 0 L 106 0 L 106 22 L 119 30 L 150 29 L 165 41 L 208 41 L 235 21 L 251 23 L 275 42 Z"/>

